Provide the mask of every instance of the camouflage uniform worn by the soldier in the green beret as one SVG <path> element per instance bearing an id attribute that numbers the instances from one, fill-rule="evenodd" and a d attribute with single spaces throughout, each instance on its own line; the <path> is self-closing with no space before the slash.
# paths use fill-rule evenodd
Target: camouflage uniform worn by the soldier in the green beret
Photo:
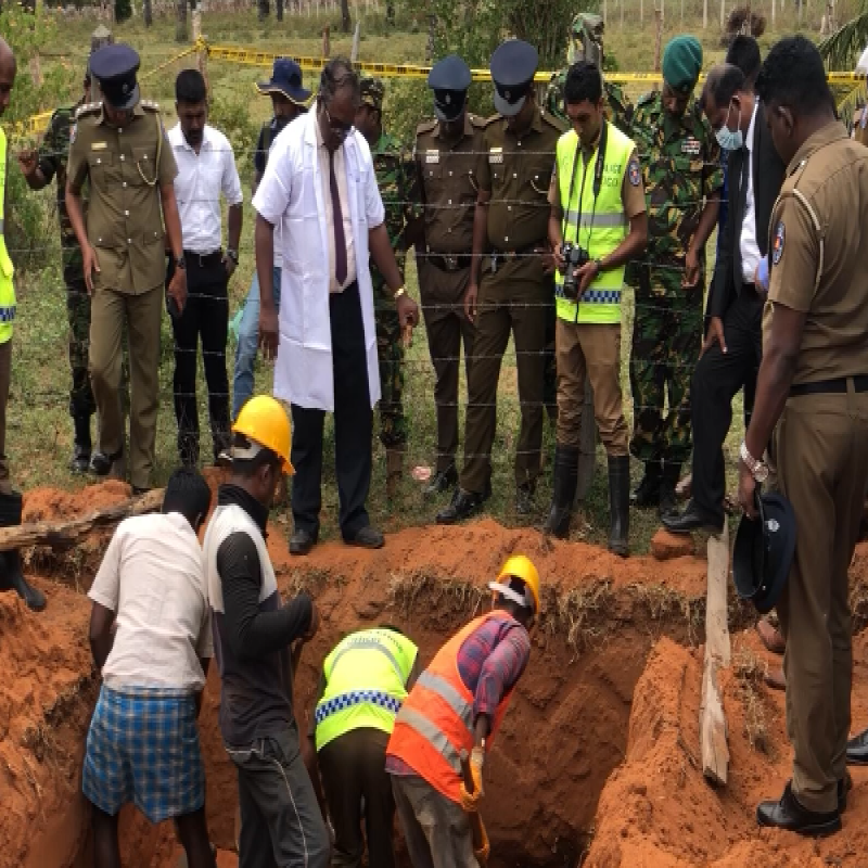
<path id="1" fill-rule="evenodd" d="M 631 138 L 648 196 L 648 248 L 634 268 L 630 451 L 644 462 L 681 464 L 690 455 L 690 378 L 702 347 L 704 252 L 697 285 L 685 290 L 681 280 L 703 201 L 724 183 L 720 149 L 698 101 L 674 118 L 660 93 L 639 100 Z"/>

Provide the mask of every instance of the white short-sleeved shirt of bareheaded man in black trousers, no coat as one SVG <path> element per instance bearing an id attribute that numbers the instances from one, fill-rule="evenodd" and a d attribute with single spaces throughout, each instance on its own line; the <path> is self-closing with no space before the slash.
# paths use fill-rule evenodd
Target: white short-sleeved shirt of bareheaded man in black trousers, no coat
<path id="1" fill-rule="evenodd" d="M 244 201 L 232 145 L 222 132 L 207 124 L 199 153 L 188 144 L 180 124 L 169 130 L 168 138 L 178 164 L 175 197 L 183 248 L 191 253 L 216 253 L 222 245 L 220 193 L 229 205 Z"/>

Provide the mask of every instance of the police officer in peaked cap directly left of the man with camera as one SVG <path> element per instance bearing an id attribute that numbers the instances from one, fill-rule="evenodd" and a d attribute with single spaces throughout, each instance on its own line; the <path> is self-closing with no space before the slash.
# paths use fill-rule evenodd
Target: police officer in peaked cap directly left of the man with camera
<path id="1" fill-rule="evenodd" d="M 553 267 L 547 242 L 549 179 L 563 124 L 536 102 L 536 49 L 520 39 L 492 55 L 495 107 L 485 128 L 476 173 L 480 192 L 473 226 L 470 285 L 464 297 L 476 324 L 464 433 L 464 468 L 449 507 L 452 524 L 490 496 L 492 446 L 497 427 L 497 382 L 512 333 L 521 404 L 515 455 L 515 510 L 528 514 L 540 471 L 546 308 Z"/>

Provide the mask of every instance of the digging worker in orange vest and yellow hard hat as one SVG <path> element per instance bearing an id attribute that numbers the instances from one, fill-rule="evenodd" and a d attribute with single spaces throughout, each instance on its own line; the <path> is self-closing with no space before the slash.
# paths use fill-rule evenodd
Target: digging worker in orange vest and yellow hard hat
<path id="1" fill-rule="evenodd" d="M 507 560 L 492 611 L 454 636 L 419 676 L 386 749 L 395 805 L 413 868 L 477 868 L 469 814 L 485 794 L 485 757 L 531 658 L 539 574 L 528 558 Z M 473 792 L 461 777 L 470 753 Z"/>

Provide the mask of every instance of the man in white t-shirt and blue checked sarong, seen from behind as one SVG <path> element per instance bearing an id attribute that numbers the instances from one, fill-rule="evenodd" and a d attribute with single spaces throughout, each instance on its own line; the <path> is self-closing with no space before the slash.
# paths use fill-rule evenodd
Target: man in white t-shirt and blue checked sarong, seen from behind
<path id="1" fill-rule="evenodd" d="M 213 656 L 196 537 L 209 507 L 205 480 L 177 470 L 162 513 L 118 525 L 88 595 L 103 678 L 81 780 L 95 868 L 120 868 L 117 818 L 128 802 L 153 824 L 176 819 L 189 868 L 215 868 L 196 727 Z"/>

